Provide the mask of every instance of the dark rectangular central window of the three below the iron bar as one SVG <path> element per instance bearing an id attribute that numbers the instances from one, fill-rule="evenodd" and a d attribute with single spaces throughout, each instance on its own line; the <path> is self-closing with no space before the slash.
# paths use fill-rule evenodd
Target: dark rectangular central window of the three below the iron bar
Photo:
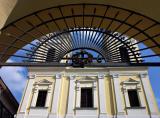
<path id="1" fill-rule="evenodd" d="M 93 107 L 92 88 L 81 88 L 81 107 Z"/>

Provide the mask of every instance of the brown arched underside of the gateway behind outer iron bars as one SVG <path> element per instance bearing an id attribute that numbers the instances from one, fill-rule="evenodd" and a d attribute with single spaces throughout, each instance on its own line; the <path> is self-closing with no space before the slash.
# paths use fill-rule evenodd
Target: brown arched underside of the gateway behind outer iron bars
<path id="1" fill-rule="evenodd" d="M 5 62 L 26 44 L 37 46 L 31 42 L 46 34 L 70 32 L 72 29 L 86 30 L 87 28 L 90 30 L 104 29 L 104 31 L 98 31 L 103 34 L 111 31 L 112 33 L 108 35 L 119 32 L 118 37 L 112 37 L 121 38 L 126 35 L 128 36 L 126 41 L 134 38 L 137 40 L 135 44 L 144 43 L 148 47 L 140 49 L 141 51 L 151 49 L 156 53 L 145 55 L 144 58 L 160 55 L 160 24 L 157 21 L 134 11 L 111 5 L 71 4 L 34 12 L 4 27 L 0 35 L 1 62 Z M 125 44 L 126 41 L 121 43 Z"/>

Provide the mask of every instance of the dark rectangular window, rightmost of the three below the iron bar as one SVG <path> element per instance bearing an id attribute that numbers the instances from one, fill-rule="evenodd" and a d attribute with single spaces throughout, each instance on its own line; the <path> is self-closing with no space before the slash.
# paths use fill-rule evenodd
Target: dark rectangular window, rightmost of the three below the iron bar
<path id="1" fill-rule="evenodd" d="M 131 107 L 140 107 L 137 90 L 128 90 L 128 96 Z"/>

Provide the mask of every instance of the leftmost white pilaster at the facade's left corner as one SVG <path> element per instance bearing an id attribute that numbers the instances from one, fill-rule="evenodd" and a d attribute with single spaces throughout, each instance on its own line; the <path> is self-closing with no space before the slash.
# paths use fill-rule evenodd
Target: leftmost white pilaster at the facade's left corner
<path id="1" fill-rule="evenodd" d="M 28 76 L 28 82 L 25 87 L 25 92 L 23 93 L 23 98 L 21 101 L 21 106 L 19 108 L 19 112 L 17 113 L 16 118 L 24 118 L 27 112 L 28 105 L 30 104 L 29 102 L 32 96 L 32 89 L 33 89 L 33 84 L 34 84 L 34 78 L 35 75 L 29 75 Z"/>

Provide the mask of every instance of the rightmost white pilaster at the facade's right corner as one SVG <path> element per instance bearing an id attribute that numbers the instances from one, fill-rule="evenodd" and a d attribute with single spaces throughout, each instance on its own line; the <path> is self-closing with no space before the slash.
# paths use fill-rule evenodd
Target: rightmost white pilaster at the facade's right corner
<path id="1" fill-rule="evenodd" d="M 149 78 L 147 73 L 140 74 L 141 83 L 144 89 L 144 93 L 147 99 L 150 115 L 152 118 L 159 118 L 158 111 L 155 105 L 155 99 L 149 83 Z"/>

